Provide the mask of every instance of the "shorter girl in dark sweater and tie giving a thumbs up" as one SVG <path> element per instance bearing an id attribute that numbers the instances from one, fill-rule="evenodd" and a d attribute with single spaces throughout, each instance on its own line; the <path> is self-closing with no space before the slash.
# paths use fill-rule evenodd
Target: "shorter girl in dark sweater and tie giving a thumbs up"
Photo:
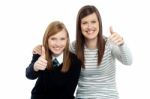
<path id="1" fill-rule="evenodd" d="M 27 78 L 38 78 L 31 99 L 74 99 L 81 66 L 69 52 L 69 34 L 63 23 L 54 21 L 47 27 L 41 49 L 41 56 L 33 54 L 26 68 Z"/>

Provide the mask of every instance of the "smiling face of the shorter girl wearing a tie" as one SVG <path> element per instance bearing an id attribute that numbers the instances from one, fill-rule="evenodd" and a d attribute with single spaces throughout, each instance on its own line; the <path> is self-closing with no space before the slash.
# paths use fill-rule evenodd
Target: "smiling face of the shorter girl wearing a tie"
<path id="1" fill-rule="evenodd" d="M 48 46 L 54 56 L 58 56 L 63 53 L 63 50 L 67 44 L 67 40 L 67 33 L 64 29 L 48 38 Z"/>

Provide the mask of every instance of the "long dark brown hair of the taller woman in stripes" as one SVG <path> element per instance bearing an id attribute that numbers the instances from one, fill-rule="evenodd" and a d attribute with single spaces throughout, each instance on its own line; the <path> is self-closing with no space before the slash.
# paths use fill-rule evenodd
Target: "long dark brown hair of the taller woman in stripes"
<path id="1" fill-rule="evenodd" d="M 105 50 L 105 40 L 103 38 L 102 35 L 102 20 L 101 20 L 101 16 L 100 13 L 98 11 L 98 9 L 95 6 L 92 5 L 86 5 L 83 6 L 77 15 L 77 20 L 76 20 L 76 54 L 77 57 L 79 58 L 79 60 L 82 63 L 82 67 L 85 68 L 84 65 L 84 45 L 85 45 L 85 37 L 82 34 L 81 31 L 81 20 L 82 18 L 95 13 L 97 15 L 98 21 L 99 21 L 99 33 L 97 35 L 98 39 L 97 39 L 97 47 L 98 47 L 98 66 L 100 65 L 102 58 L 103 58 L 103 54 L 104 54 L 104 50 Z"/>

